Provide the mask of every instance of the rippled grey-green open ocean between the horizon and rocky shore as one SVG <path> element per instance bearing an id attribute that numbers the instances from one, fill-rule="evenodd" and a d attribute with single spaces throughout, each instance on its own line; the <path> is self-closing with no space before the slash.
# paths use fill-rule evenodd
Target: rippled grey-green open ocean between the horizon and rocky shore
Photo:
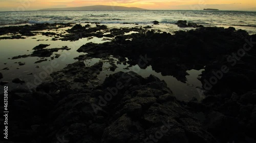
<path id="1" fill-rule="evenodd" d="M 204 26 L 233 26 L 256 33 L 256 12 L 250 11 L 192 11 L 192 10 L 140 10 L 140 11 L 19 11 L 0 12 L 0 26 L 34 23 L 152 24 L 157 20 L 165 31 L 180 30 L 173 24 L 187 20 Z"/>

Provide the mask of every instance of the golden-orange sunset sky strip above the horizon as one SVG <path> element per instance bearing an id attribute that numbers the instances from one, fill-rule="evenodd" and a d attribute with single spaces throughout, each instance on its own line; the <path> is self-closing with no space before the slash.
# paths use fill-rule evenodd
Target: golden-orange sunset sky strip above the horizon
<path id="1" fill-rule="evenodd" d="M 150 10 L 255 10 L 256 0 L 0 0 L 0 11 L 29 11 L 45 8 L 93 5 L 139 7 Z"/>

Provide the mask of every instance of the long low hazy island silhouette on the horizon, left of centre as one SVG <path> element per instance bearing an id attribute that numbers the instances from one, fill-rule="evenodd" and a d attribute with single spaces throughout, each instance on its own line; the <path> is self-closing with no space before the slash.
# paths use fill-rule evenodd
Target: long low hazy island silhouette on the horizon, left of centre
<path id="1" fill-rule="evenodd" d="M 141 9 L 136 7 L 96 5 L 96 6 L 86 6 L 86 7 L 40 9 L 38 11 L 83 11 L 83 10 L 146 10 L 146 9 Z"/>

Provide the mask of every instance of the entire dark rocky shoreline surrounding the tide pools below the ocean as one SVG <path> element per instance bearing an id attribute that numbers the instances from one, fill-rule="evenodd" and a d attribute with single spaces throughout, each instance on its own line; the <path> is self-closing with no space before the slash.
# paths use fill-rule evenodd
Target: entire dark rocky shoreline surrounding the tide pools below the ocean
<path id="1" fill-rule="evenodd" d="M 63 27 L 60 25 L 55 26 Z M 30 32 L 24 33 L 34 34 L 27 34 Z M 75 58 L 78 62 L 53 72 L 51 79 L 31 92 L 13 89 L 9 93 L 11 141 L 255 142 L 256 35 L 233 27 L 200 26 L 171 35 L 140 27 L 108 29 L 78 24 L 67 32 L 54 38 L 73 41 L 104 35 L 113 40 L 81 46 L 77 51 L 82 54 Z M 129 32 L 137 33 L 125 35 Z M 15 38 L 11 28 L 0 33 L 13 33 Z M 46 55 L 51 56 L 46 46 L 38 45 L 35 51 L 47 50 Z M 199 94 L 206 97 L 178 101 L 164 81 L 132 71 L 117 72 L 100 83 L 97 75 L 103 63 L 83 63 L 92 58 L 111 63 L 112 56 L 127 67 L 152 66 L 163 76 L 182 82 L 186 82 L 188 70 L 204 69 Z M 115 70 L 116 65 L 112 62 L 111 67 Z"/>

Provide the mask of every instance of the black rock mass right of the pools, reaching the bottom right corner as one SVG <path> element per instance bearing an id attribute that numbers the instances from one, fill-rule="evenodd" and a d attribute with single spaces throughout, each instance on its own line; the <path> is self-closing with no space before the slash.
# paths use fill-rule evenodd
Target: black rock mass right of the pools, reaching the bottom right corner
<path id="1" fill-rule="evenodd" d="M 233 27 L 202 27 L 188 32 L 134 34 L 131 41 L 83 45 L 86 58 L 114 55 L 128 58 L 130 65 L 147 58 L 162 75 L 185 82 L 186 71 L 205 69 L 200 80 L 206 98 L 185 103 L 208 132 L 220 142 L 255 142 L 255 42 L 256 35 Z M 106 50 L 107 49 L 107 50 Z M 90 54 L 91 53 L 91 54 Z M 145 59 L 145 58 L 144 58 Z M 200 93 L 199 93 L 200 94 Z M 131 105 L 139 109 L 139 106 Z"/>

